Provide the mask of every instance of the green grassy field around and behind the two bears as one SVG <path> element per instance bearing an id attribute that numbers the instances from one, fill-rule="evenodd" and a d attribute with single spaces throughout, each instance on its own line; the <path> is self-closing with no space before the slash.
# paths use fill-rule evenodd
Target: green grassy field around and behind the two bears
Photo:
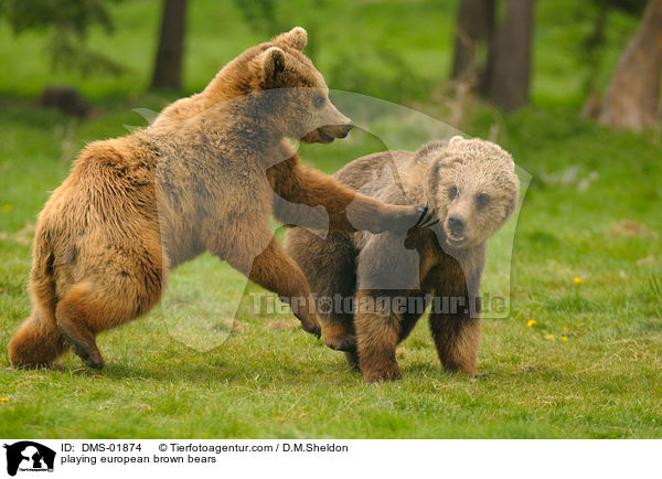
<path id="1" fill-rule="evenodd" d="M 218 7 L 218 28 L 205 14 L 209 3 L 193 2 L 186 63 L 192 91 L 261 40 L 229 7 Z M 655 131 L 611 132 L 579 119 L 586 72 L 568 52 L 587 21 L 570 22 L 567 4 L 538 3 L 534 106 L 509 116 L 479 107 L 466 127 L 468 135 L 488 137 L 498 125 L 499 141 L 533 177 L 516 223 L 512 277 L 501 272 L 505 285 L 496 274 L 485 278 L 489 290 L 510 289 L 512 304 L 508 318 L 484 321 L 484 377 L 442 372 L 424 318 L 398 350 L 403 381 L 378 385 L 364 384 L 341 354 L 288 316 L 254 313 L 249 298 L 231 334 L 223 328 L 205 332 L 205 324 L 228 319 L 214 299 L 222 306 L 244 292 L 236 274 L 209 256 L 173 273 L 162 307 L 99 338 L 103 371 L 83 368 L 71 353 L 62 370 L 10 370 L 6 344 L 30 312 L 31 226 L 47 192 L 87 141 L 143 125 L 132 109 L 159 109 L 168 98 L 141 93 L 157 25 L 150 2 L 120 3 L 116 35 L 93 35 L 95 45 L 130 67 L 118 78 L 51 74 L 39 38 L 13 40 L 0 28 L 0 57 L 11 65 L 0 78 L 0 436 L 662 437 L 662 138 Z M 451 34 L 438 31 L 450 29 L 452 8 L 423 15 L 426 2 L 391 6 L 361 30 L 351 28 L 357 17 L 342 6 L 330 2 L 338 14 L 320 26 L 323 73 L 352 43 L 389 38 L 416 74 L 445 77 Z M 428 23 L 415 28 L 421 18 Z M 610 42 L 618 45 L 632 24 L 615 21 Z M 291 23 L 306 24 L 306 18 L 293 15 Z M 356 38 L 332 35 L 341 24 Z M 607 75 L 617 55 L 618 46 L 607 52 Z M 78 123 L 36 108 L 30 96 L 44 83 L 81 86 L 95 116 Z M 402 118 L 384 121 L 404 128 Z M 302 153 L 333 172 L 381 148 L 355 131 Z M 508 242 L 494 246 L 491 259 L 501 264 Z M 199 318 L 202 330 L 189 332 L 194 339 L 206 334 L 218 345 L 212 350 L 178 336 L 178 305 L 200 298 L 209 317 Z"/>

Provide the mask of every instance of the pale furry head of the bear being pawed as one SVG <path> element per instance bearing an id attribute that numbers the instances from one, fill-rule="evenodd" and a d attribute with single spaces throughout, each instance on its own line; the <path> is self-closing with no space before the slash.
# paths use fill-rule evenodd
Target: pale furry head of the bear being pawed
<path id="1" fill-rule="evenodd" d="M 453 137 L 424 146 L 416 161 L 425 164 L 426 201 L 448 247 L 480 245 L 515 211 L 520 181 L 512 157 L 498 145 Z"/>

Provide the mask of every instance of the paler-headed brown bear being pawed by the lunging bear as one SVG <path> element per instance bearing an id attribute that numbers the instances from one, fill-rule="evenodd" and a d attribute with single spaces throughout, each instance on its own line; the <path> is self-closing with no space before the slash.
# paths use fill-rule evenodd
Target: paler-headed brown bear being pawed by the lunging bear
<path id="1" fill-rule="evenodd" d="M 325 240 L 301 227 L 288 231 L 285 248 L 308 279 L 327 344 L 345 351 L 365 381 L 399 379 L 396 345 L 431 304 L 441 363 L 474 374 L 488 238 L 517 204 L 511 156 L 489 141 L 453 137 L 417 152 L 359 158 L 335 179 L 389 203 L 425 201 L 436 220 L 409 233 L 331 233 Z"/>

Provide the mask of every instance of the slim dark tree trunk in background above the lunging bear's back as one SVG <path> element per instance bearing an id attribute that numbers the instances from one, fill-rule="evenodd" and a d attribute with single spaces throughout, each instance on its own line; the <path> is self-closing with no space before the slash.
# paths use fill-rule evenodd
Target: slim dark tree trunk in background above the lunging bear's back
<path id="1" fill-rule="evenodd" d="M 152 88 L 182 88 L 182 57 L 186 30 L 186 0 L 163 0 L 159 50 Z"/>

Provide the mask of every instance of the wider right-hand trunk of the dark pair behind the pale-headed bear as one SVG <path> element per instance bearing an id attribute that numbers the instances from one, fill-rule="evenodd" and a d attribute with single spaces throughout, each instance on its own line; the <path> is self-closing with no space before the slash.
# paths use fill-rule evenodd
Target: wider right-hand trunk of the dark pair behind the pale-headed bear
<path id="1" fill-rule="evenodd" d="M 533 0 L 505 0 L 505 18 L 490 41 L 483 91 L 506 111 L 528 103 L 533 10 Z"/>

